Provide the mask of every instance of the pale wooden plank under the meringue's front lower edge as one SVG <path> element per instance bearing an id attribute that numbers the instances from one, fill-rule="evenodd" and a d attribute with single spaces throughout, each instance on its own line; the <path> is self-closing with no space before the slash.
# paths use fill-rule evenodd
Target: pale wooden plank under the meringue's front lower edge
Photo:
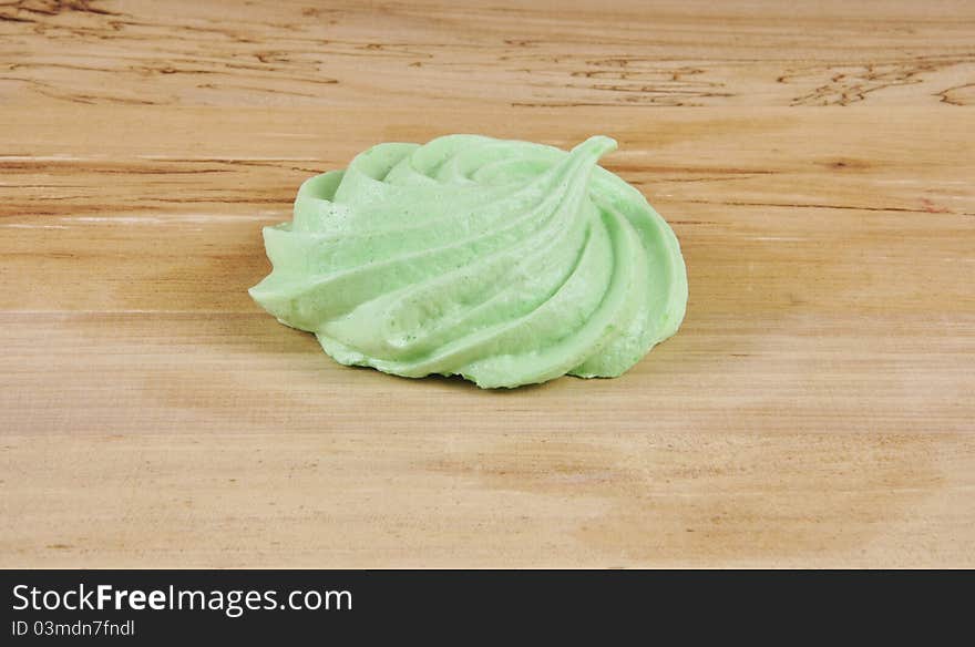
<path id="1" fill-rule="evenodd" d="M 696 311 L 616 380 L 513 392 L 348 369 L 269 317 L 214 312 L 2 316 L 7 433 L 971 431 L 975 317 Z M 855 328 L 855 329 L 854 329 Z M 378 407 L 377 402 L 382 405 Z M 60 403 L 60 405 L 54 405 Z"/>

